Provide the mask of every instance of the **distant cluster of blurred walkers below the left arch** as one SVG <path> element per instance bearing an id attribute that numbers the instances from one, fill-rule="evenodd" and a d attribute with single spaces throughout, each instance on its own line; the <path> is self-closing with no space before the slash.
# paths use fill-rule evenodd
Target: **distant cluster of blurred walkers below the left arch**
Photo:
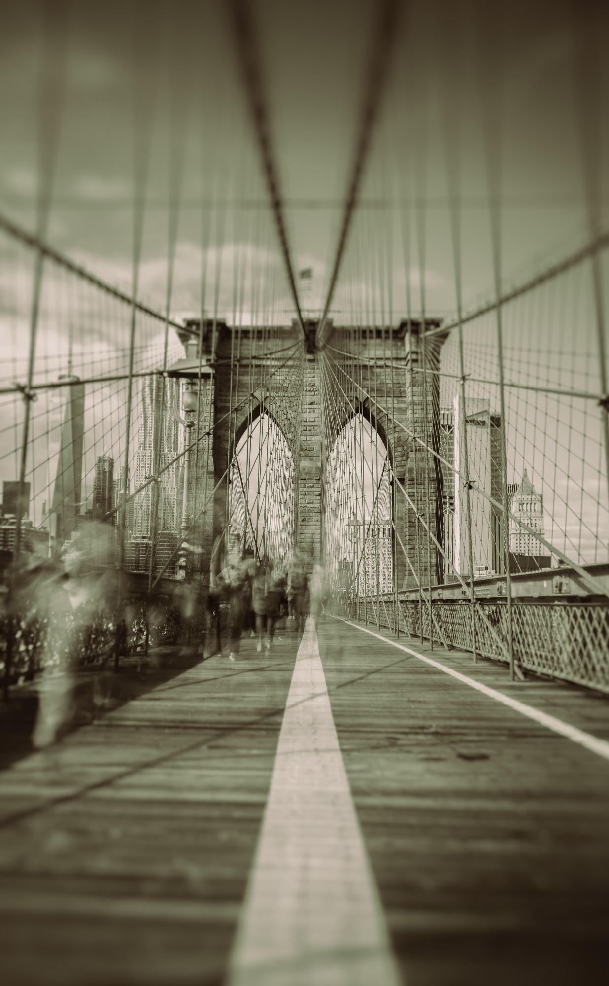
<path id="1" fill-rule="evenodd" d="M 256 650 L 271 651 L 280 619 L 289 629 L 304 629 L 309 611 L 317 619 L 324 600 L 324 579 L 320 566 L 312 571 L 305 559 L 295 554 L 289 564 L 264 557 L 256 559 L 253 551 L 227 556 L 225 535 L 216 538 L 210 565 L 208 608 L 211 645 L 208 653 L 222 652 L 221 605 L 228 604 L 227 630 L 229 660 L 236 661 L 243 633 L 257 637 Z"/>

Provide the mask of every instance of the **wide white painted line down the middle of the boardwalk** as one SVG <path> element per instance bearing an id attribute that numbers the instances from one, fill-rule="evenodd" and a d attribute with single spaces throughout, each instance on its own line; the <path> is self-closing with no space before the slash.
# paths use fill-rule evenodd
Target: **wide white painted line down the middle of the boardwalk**
<path id="1" fill-rule="evenodd" d="M 228 982 L 401 982 L 310 617 L 290 686 Z"/>

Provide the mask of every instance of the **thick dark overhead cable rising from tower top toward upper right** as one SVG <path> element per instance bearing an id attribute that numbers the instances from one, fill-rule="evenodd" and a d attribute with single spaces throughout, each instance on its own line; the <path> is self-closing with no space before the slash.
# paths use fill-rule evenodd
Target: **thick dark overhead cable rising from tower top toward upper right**
<path id="1" fill-rule="evenodd" d="M 323 313 L 317 326 L 317 348 L 323 347 L 323 330 L 327 321 L 328 312 L 330 311 L 330 305 L 332 304 L 332 298 L 334 297 L 334 290 L 347 245 L 347 236 L 356 207 L 362 176 L 364 175 L 366 159 L 371 146 L 372 128 L 378 115 L 384 84 L 387 78 L 391 49 L 395 41 L 399 6 L 399 0 L 384 0 L 378 7 L 378 17 L 372 40 L 371 59 L 362 106 L 362 116 L 360 118 L 353 171 L 345 199 L 343 222 L 338 238 L 338 246 L 336 247 L 334 266 L 332 267 L 332 274 L 328 284 L 325 305 L 323 306 Z"/>

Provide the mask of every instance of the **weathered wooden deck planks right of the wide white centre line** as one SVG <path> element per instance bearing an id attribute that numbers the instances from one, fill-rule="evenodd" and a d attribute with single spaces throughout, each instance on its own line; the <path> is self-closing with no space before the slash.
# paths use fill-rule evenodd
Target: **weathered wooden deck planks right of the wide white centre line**
<path id="1" fill-rule="evenodd" d="M 318 637 L 407 981 L 603 981 L 609 764 L 358 629 L 327 621 Z M 505 669 L 455 652 L 434 657 L 608 735 L 609 702 L 596 694 L 510 684 Z"/>

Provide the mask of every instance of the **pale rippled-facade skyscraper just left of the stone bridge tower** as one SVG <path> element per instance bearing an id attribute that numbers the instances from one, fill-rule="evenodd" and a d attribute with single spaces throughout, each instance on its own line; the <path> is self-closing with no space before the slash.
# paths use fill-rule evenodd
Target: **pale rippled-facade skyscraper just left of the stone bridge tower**
<path id="1" fill-rule="evenodd" d="M 162 399 L 165 387 L 165 399 Z M 177 531 L 180 523 L 178 505 L 181 506 L 182 462 L 169 462 L 180 449 L 179 413 L 180 384 L 177 380 L 162 377 L 143 377 L 140 386 L 138 412 L 138 451 L 135 463 L 135 486 L 142 486 L 154 474 L 155 443 L 161 480 L 159 482 L 159 531 Z M 163 418 L 161 414 L 163 404 Z M 134 498 L 133 536 L 150 537 L 152 534 L 152 484 Z"/>

